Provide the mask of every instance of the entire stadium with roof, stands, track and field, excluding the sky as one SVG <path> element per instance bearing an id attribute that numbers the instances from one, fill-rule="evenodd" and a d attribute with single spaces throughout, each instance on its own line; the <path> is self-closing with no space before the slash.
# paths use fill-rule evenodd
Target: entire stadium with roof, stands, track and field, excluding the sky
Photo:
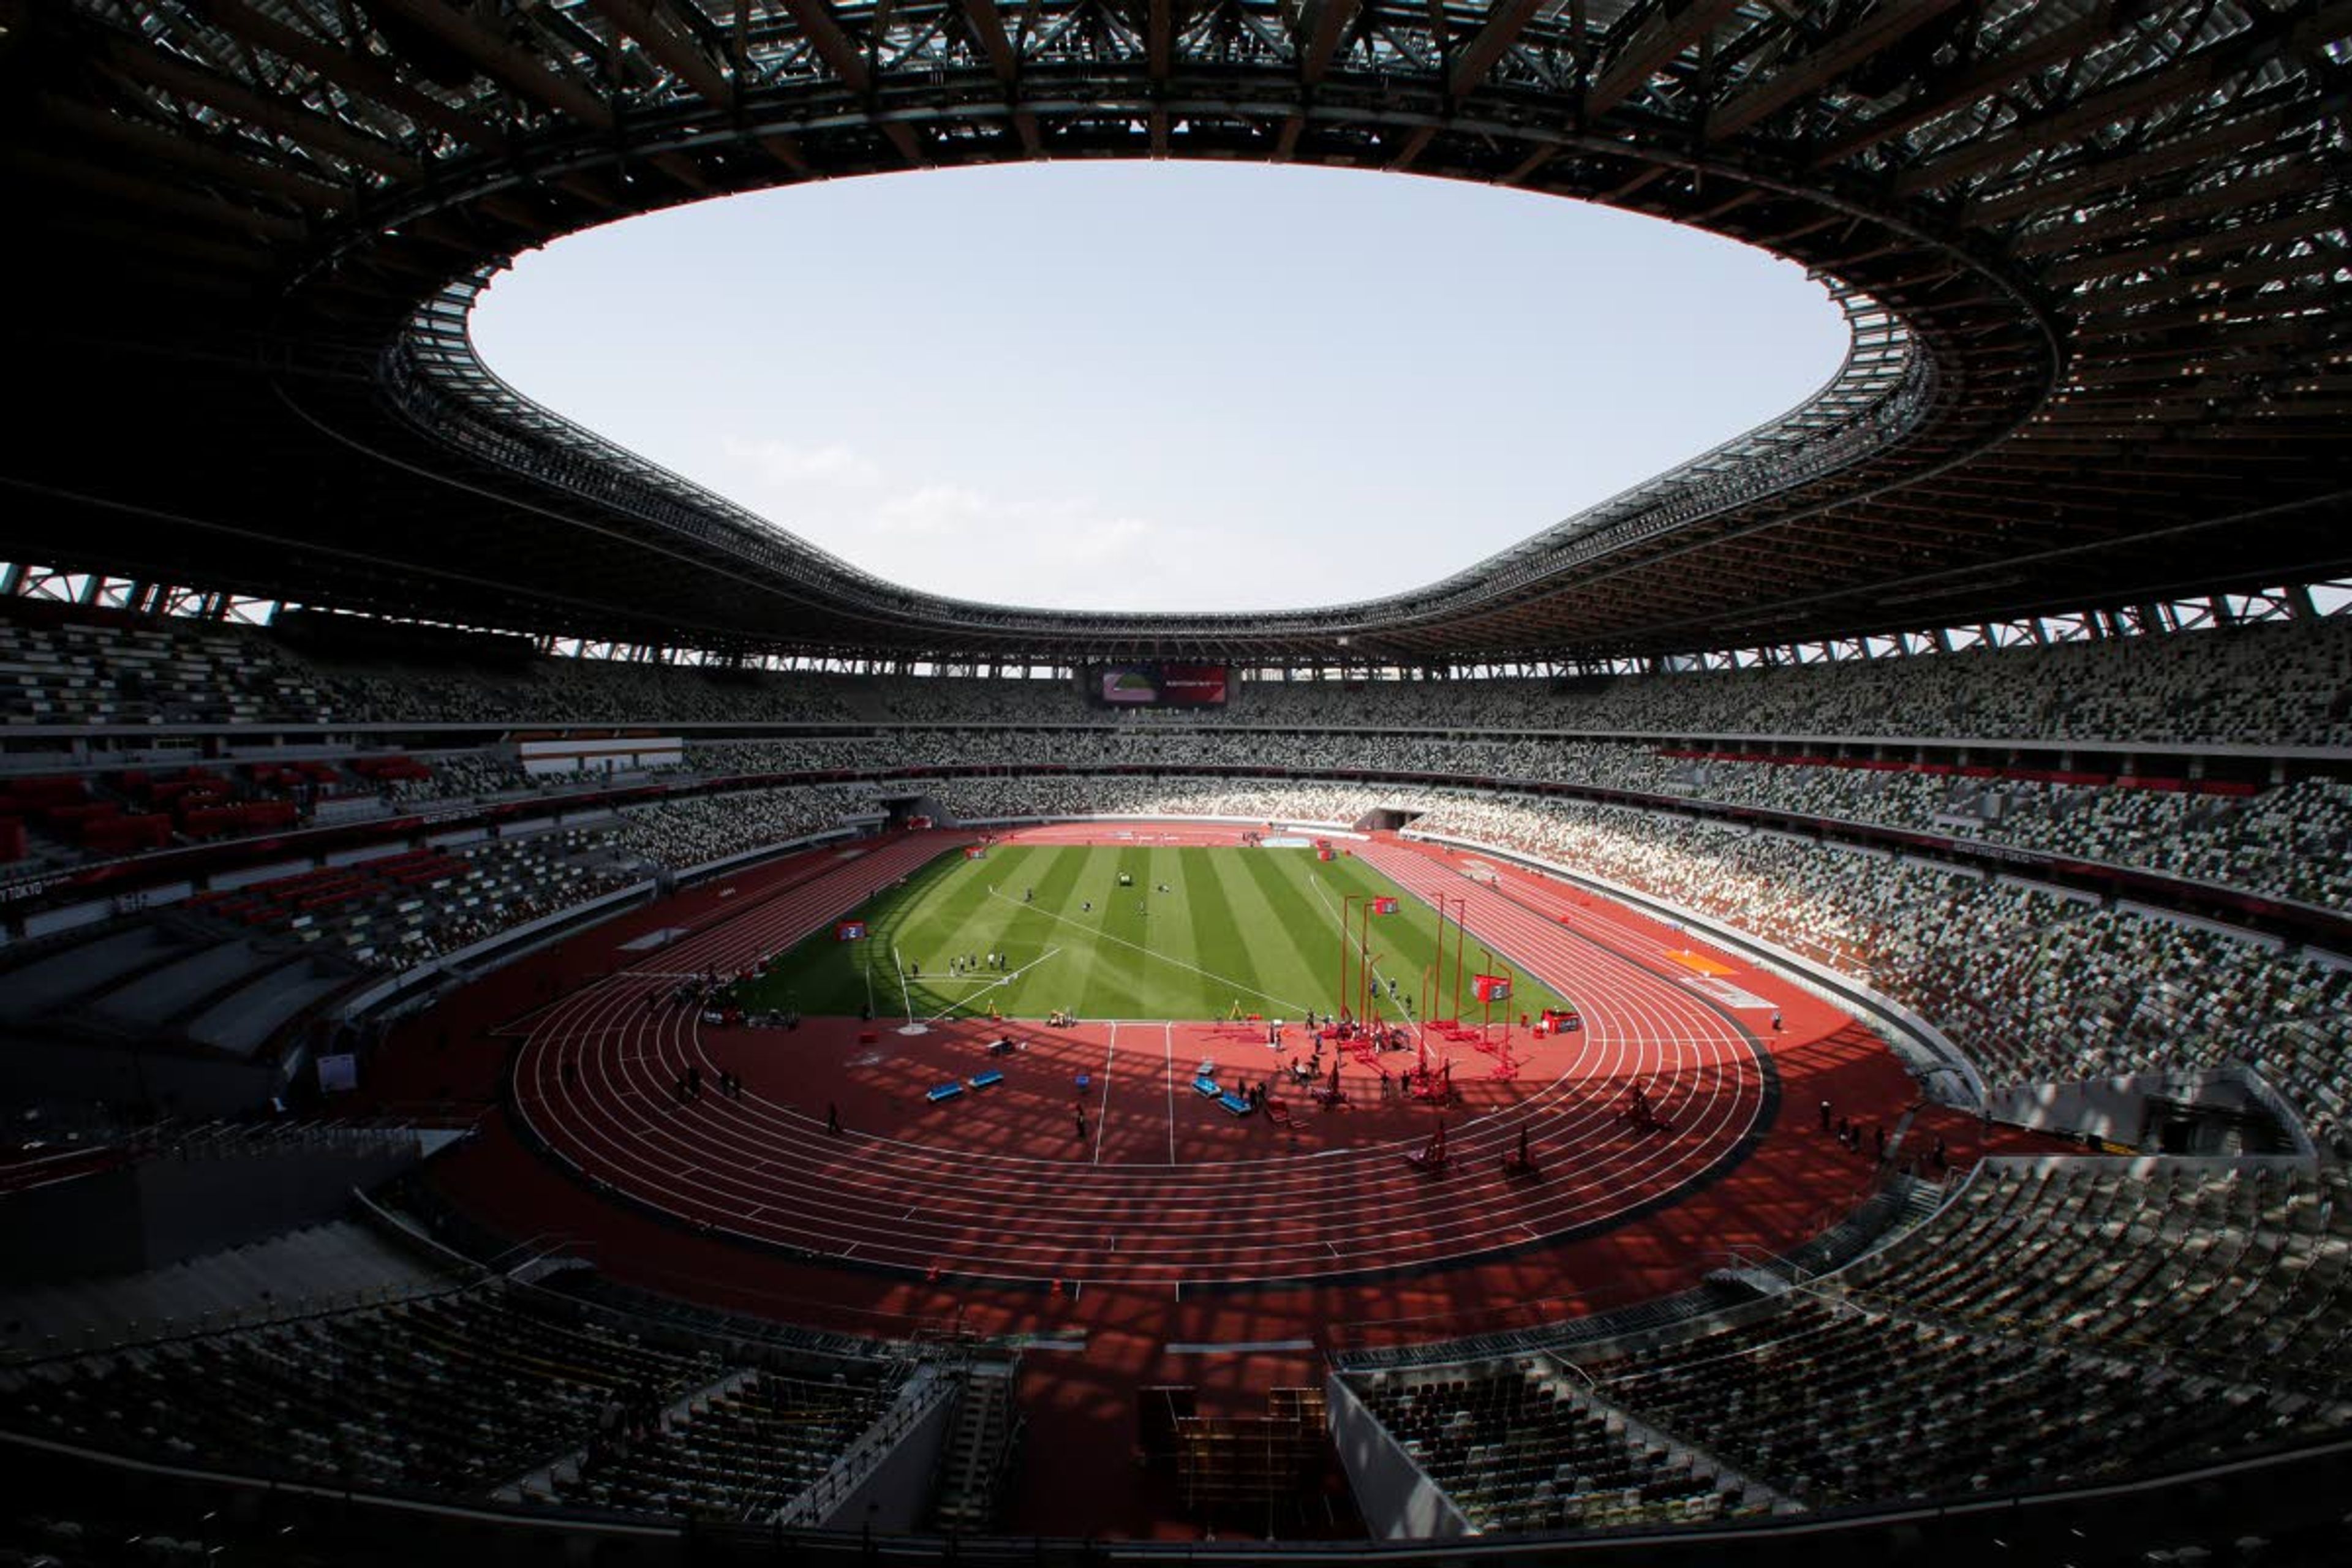
<path id="1" fill-rule="evenodd" d="M 0 1561 L 2345 1561 L 2347 71 L 12 0 Z M 889 581 L 475 350 L 595 226 L 1077 160 L 1646 214 L 1846 350 L 1202 614 Z"/>

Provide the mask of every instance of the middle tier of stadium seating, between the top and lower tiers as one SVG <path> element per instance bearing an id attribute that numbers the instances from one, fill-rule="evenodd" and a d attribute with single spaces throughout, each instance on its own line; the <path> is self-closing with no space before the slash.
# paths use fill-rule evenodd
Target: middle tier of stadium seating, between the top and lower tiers
<path id="1" fill-rule="evenodd" d="M 310 788 L 343 795 L 365 792 L 365 797 L 383 795 L 393 802 L 499 797 L 602 783 L 579 776 L 532 780 L 501 752 L 435 752 L 423 762 L 405 755 L 362 755 L 350 757 L 343 769 L 322 762 L 301 766 L 306 769 L 301 780 Z M 1345 731 L 1258 736 L 1108 726 L 1054 733 L 908 729 L 866 736 L 689 743 L 684 759 L 659 769 L 659 773 L 687 778 L 811 771 L 891 771 L 903 776 L 913 771 L 920 776 L 927 766 L 1237 766 L 1298 773 L 1345 769 L 1573 783 L 1938 832 L 1983 844 L 2013 844 L 2265 898 L 2352 907 L 2352 783 L 2336 778 L 2300 778 L 2267 790 L 2253 785 L 2150 788 L 2129 778 L 2091 783 L 2089 776 L 2082 776 L 2077 783 L 2056 783 L 1987 769 L 1962 773 L 1950 766 L 1917 771 L 1896 764 L 1764 762 L 1658 750 L 1632 741 L 1470 741 Z M 294 802 L 301 799 L 289 795 L 292 785 L 280 778 L 294 776 L 294 771 L 275 764 L 212 769 L 193 785 L 191 776 L 193 771 L 134 769 L 89 778 L 40 776 L 0 783 L 0 818 L 16 816 L 31 823 L 31 846 L 49 860 L 71 863 L 226 832 L 273 832 L 292 818 Z M 2183 780 L 2159 783 L 2180 785 Z M 1383 797 L 1411 799 L 1414 790 L 1414 785 L 1399 785 Z M 757 842 L 760 818 L 748 804 L 757 797 L 739 799 L 746 806 L 727 816 L 741 818 L 743 830 L 710 837 L 713 856 Z M 809 827 L 835 820 L 837 813 L 828 816 L 828 806 L 818 797 L 809 799 L 809 809 L 823 818 L 811 818 Z M 856 790 L 847 790 L 842 809 L 856 809 L 861 799 Z M 955 799 L 953 792 L 948 799 Z M 1077 802 L 1082 795 L 1073 790 L 1070 799 Z M 666 818 L 677 820 L 661 825 Z M 710 806 L 680 802 L 640 811 L 635 820 L 654 832 L 654 839 L 640 849 L 675 865 L 691 865 L 694 860 L 684 858 L 691 851 L 680 849 L 673 856 L 661 849 L 661 835 L 689 832 L 684 827 L 689 818 L 710 820 Z M 350 818 L 339 816 L 336 820 Z M 141 832 L 146 827 L 155 832 Z M 779 818 L 776 837 L 804 830 Z"/>

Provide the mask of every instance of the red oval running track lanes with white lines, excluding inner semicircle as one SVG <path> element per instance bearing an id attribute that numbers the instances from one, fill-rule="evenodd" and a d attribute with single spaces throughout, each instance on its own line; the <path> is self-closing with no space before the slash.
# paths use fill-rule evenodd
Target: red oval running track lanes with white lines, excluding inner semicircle
<path id="1" fill-rule="evenodd" d="M 710 1237 L 894 1272 L 1176 1295 L 1421 1272 L 1590 1234 L 1719 1173 L 1769 1126 L 1764 1053 L 1686 985 L 1686 971 L 1663 961 L 1653 938 L 1564 929 L 1397 844 L 1357 853 L 1425 900 L 1468 898 L 1472 938 L 1576 997 L 1585 1016 L 1557 1079 L 1449 1128 L 1456 1168 L 1446 1175 L 1406 1166 L 1418 1135 L 1312 1154 L 1094 1164 L 1035 1145 L 960 1147 L 863 1128 L 828 1135 L 821 1112 L 757 1081 L 736 1100 L 715 1088 L 675 1100 L 689 1065 L 706 1084 L 717 1074 L 694 1011 L 663 999 L 675 973 L 753 966 L 960 842 L 917 835 L 842 860 L 550 1004 L 529 1020 L 515 1058 L 517 1114 L 574 1173 Z M 1188 1025 L 1094 1030 L 1108 1060 L 1127 1039 L 1155 1081 L 1162 1060 L 1174 1074 L 1192 1048 L 1190 1034 L 1183 1051 L 1176 1044 Z M 1630 1081 L 1649 1086 L 1670 1131 L 1625 1124 Z M 910 1100 L 920 1103 L 920 1086 L 908 1086 Z M 1501 1173 L 1522 1128 L 1543 1180 Z"/>

